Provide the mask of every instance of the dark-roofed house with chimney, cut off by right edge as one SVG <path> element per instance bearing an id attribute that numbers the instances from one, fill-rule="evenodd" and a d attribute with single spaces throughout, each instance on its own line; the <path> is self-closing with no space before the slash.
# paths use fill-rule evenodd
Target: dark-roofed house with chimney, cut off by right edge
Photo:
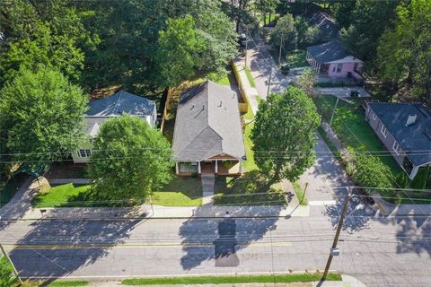
<path id="1" fill-rule="evenodd" d="M 431 113 L 420 104 L 366 104 L 365 120 L 410 179 L 431 165 Z"/>

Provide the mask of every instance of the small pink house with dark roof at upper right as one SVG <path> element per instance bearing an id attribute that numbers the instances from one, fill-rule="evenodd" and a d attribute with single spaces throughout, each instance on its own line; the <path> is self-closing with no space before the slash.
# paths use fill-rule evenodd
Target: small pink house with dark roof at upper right
<path id="1" fill-rule="evenodd" d="M 338 39 L 307 48 L 307 62 L 317 72 L 333 78 L 362 79 L 364 62 L 352 56 Z"/>

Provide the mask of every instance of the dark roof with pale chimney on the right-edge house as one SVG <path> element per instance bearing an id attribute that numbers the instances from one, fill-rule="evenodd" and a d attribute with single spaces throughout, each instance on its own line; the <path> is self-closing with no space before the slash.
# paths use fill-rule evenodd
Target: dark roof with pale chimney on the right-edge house
<path id="1" fill-rule="evenodd" d="M 414 165 L 431 162 L 431 112 L 420 104 L 368 103 Z M 414 124 L 406 126 L 409 115 Z"/>

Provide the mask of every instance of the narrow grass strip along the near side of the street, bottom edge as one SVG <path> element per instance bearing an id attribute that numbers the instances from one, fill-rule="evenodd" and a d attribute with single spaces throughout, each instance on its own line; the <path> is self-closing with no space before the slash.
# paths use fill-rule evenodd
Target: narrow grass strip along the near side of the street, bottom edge
<path id="1" fill-rule="evenodd" d="M 148 277 L 125 279 L 124 285 L 175 285 L 175 284 L 224 284 L 224 283 L 299 283 L 321 280 L 320 273 L 314 274 L 274 274 L 274 275 L 236 275 L 236 276 L 184 276 Z M 330 273 L 327 281 L 341 281 L 340 274 Z"/>

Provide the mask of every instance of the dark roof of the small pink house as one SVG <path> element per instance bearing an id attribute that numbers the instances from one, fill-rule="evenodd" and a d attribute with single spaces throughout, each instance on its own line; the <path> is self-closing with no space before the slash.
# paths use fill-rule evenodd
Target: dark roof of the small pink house
<path id="1" fill-rule="evenodd" d="M 329 42 L 310 46 L 307 48 L 307 51 L 309 51 L 310 54 L 312 54 L 312 57 L 321 64 L 351 56 L 351 54 L 343 48 L 343 45 L 338 39 L 331 39 Z"/>

